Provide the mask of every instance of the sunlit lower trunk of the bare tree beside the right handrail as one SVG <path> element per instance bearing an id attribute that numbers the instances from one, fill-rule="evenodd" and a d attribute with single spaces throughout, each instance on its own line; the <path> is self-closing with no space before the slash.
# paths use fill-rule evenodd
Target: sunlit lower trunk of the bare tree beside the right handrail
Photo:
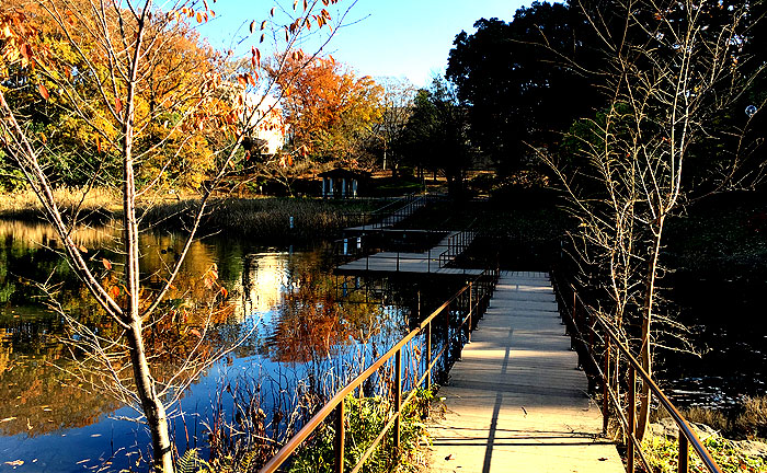
<path id="1" fill-rule="evenodd" d="M 652 330 L 652 318 L 653 318 L 653 305 L 655 302 L 655 279 L 657 278 L 657 259 L 661 253 L 661 241 L 663 238 L 663 223 L 665 216 L 661 214 L 657 221 L 652 226 L 653 232 L 653 245 L 651 247 L 651 253 L 648 258 L 648 274 L 646 274 L 646 289 L 644 297 L 644 307 L 642 308 L 642 347 L 640 350 L 640 361 L 642 362 L 642 368 L 648 374 L 652 376 L 652 350 L 650 348 L 651 330 Z M 642 441 L 644 432 L 650 423 L 650 401 L 652 399 L 652 393 L 650 392 L 650 384 L 646 382 L 642 383 L 641 407 L 639 411 L 639 417 L 637 418 L 637 439 Z"/>

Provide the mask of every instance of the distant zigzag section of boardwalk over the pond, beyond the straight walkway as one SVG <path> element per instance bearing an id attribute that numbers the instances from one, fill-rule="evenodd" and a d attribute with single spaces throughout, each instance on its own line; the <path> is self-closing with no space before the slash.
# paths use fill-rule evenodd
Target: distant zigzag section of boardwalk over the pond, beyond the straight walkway
<path id="1" fill-rule="evenodd" d="M 437 275 L 472 275 L 482 274 L 481 269 L 465 269 L 439 267 L 439 254 L 448 249 L 448 242 L 460 232 L 448 232 L 434 247 L 423 253 L 380 252 L 350 263 L 340 265 L 335 273 L 340 275 L 389 274 L 389 273 L 431 273 Z M 466 245 L 468 246 L 466 242 Z"/>

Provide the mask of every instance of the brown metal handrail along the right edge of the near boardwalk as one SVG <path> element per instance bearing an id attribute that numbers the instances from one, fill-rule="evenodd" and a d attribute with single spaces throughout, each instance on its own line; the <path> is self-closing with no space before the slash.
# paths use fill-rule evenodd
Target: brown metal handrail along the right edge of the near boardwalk
<path id="1" fill-rule="evenodd" d="M 618 420 L 621 424 L 621 427 L 623 428 L 623 431 L 626 432 L 626 437 L 628 438 L 628 445 L 627 445 L 627 464 L 626 464 L 626 471 L 629 473 L 634 472 L 634 453 L 639 455 L 640 460 L 644 464 L 645 469 L 648 471 L 651 471 L 649 461 L 644 454 L 644 451 L 642 450 L 642 445 L 639 442 L 639 440 L 636 437 L 636 426 L 634 426 L 634 413 L 636 413 L 636 376 L 639 373 L 640 379 L 642 382 L 646 383 L 648 387 L 650 388 L 650 391 L 652 392 L 653 395 L 660 401 L 661 405 L 666 409 L 666 412 L 672 416 L 674 422 L 677 425 L 677 428 L 679 429 L 679 452 L 678 452 L 678 465 L 677 465 L 677 471 L 679 473 L 687 473 L 689 471 L 689 446 L 691 445 L 692 449 L 695 452 L 698 454 L 698 458 L 701 460 L 703 465 L 707 468 L 707 470 L 710 473 L 721 473 L 721 469 L 717 464 L 717 462 L 713 460 L 711 457 L 711 453 L 708 451 L 708 449 L 702 445 L 698 436 L 695 434 L 695 430 L 690 427 L 690 425 L 685 420 L 685 418 L 682 416 L 679 411 L 674 406 L 674 404 L 668 400 L 666 394 L 661 390 L 661 388 L 655 383 L 655 381 L 652 379 L 652 377 L 642 368 L 642 365 L 631 355 L 631 351 L 628 346 L 620 339 L 620 336 L 618 335 L 618 330 L 616 330 L 613 324 L 607 321 L 602 314 L 599 314 L 597 311 L 591 310 L 589 305 L 586 304 L 581 296 L 577 293 L 577 290 L 572 286 L 568 285 L 571 290 L 572 290 L 572 307 L 566 308 L 566 302 L 564 297 L 562 297 L 561 292 L 561 285 L 558 284 L 556 278 L 552 278 L 552 281 L 554 281 L 554 285 L 557 287 L 557 292 L 560 295 L 560 299 L 562 304 L 565 307 L 564 311 L 561 311 L 562 316 L 568 316 L 570 319 L 570 323 L 573 328 L 573 334 L 575 335 L 581 343 L 583 343 L 586 348 L 588 356 L 591 358 L 591 361 L 593 364 L 593 368 L 595 368 L 595 371 L 599 376 L 602 383 L 603 383 L 603 416 L 605 417 L 605 422 L 603 425 L 603 429 L 607 429 L 607 419 L 609 415 L 609 408 L 608 408 L 608 400 L 613 402 L 613 405 L 618 414 Z M 577 303 L 580 302 L 582 310 L 585 310 L 588 315 L 589 315 L 589 321 L 587 323 L 587 328 L 588 328 L 588 341 L 583 337 L 583 333 L 577 326 L 576 323 L 576 314 L 577 314 Z M 596 335 L 595 333 L 595 327 L 596 325 L 599 325 L 602 327 L 602 331 L 606 335 L 605 341 L 606 341 L 606 346 L 605 346 L 605 356 L 603 359 L 603 366 L 605 369 L 603 370 L 599 367 L 599 364 L 596 362 L 594 358 L 594 336 Z M 623 413 L 622 406 L 619 402 L 618 395 L 616 394 L 615 390 L 610 387 L 610 380 L 609 380 L 609 366 L 610 366 L 610 347 L 615 345 L 620 354 L 626 358 L 628 365 L 629 365 L 629 412 L 628 412 L 628 418 L 626 414 Z"/>

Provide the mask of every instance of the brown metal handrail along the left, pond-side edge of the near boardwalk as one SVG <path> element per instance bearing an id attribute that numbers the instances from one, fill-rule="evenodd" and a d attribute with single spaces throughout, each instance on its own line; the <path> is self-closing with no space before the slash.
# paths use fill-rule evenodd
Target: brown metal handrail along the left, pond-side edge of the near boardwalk
<path id="1" fill-rule="evenodd" d="M 402 348 L 411 342 L 413 338 L 415 338 L 417 335 L 420 335 L 422 332 L 425 332 L 426 334 L 426 369 L 425 373 L 415 382 L 415 385 L 421 385 L 421 383 L 425 380 L 426 381 L 426 387 L 431 388 L 431 382 L 432 382 L 432 369 L 433 367 L 437 364 L 437 361 L 440 359 L 443 355 L 448 356 L 449 350 L 450 350 L 450 338 L 449 338 L 449 331 L 446 333 L 446 343 L 443 349 L 437 354 L 436 357 L 432 357 L 432 322 L 434 319 L 437 318 L 437 315 L 442 314 L 446 309 L 448 309 L 447 315 L 449 315 L 449 307 L 453 302 L 458 300 L 458 298 L 463 295 L 467 290 L 469 291 L 469 310 L 468 314 L 466 318 L 462 318 L 461 324 L 458 326 L 458 328 L 462 328 L 466 324 L 469 325 L 469 334 L 471 332 L 471 327 L 473 323 L 476 323 L 477 318 L 476 314 L 480 312 L 481 314 L 484 312 L 484 310 L 488 307 L 489 299 L 492 296 L 492 291 L 495 288 L 495 284 L 499 278 L 499 269 L 495 267 L 494 269 L 485 269 L 485 272 L 474 278 L 472 281 L 463 286 L 460 290 L 458 290 L 453 297 L 450 297 L 447 301 L 445 301 L 439 308 L 437 308 L 434 312 L 432 312 L 426 319 L 424 319 L 423 322 L 419 324 L 417 327 L 413 328 L 408 335 L 405 335 L 402 339 L 400 339 L 397 345 L 391 347 L 389 351 L 387 351 L 384 356 L 378 358 L 376 362 L 374 362 L 369 368 L 367 368 L 365 371 L 363 371 L 362 374 L 357 376 L 352 382 L 346 384 L 344 388 L 342 388 L 328 403 L 320 408 L 320 411 L 314 414 L 314 416 L 290 439 L 288 440 L 285 446 L 283 446 L 282 449 L 277 452 L 275 457 L 273 457 L 259 471 L 259 473 L 272 473 L 275 472 L 300 446 L 304 443 L 304 441 L 312 434 L 317 428 L 319 428 L 322 423 L 332 414 L 336 413 L 336 418 L 335 418 L 335 468 L 334 472 L 335 473 L 343 473 L 344 471 L 344 436 L 345 436 L 345 427 L 344 427 L 344 403 L 343 401 L 346 399 L 348 394 L 351 394 L 354 390 L 359 388 L 363 382 L 365 382 L 368 378 L 370 378 L 373 374 L 375 374 L 380 367 L 382 367 L 387 361 L 389 361 L 392 357 L 396 358 L 396 383 L 397 383 L 397 391 L 396 391 L 396 399 L 394 399 L 394 413 L 393 416 L 388 420 L 387 425 L 384 427 L 384 430 L 378 435 L 378 437 L 374 440 L 373 445 L 368 447 L 368 450 L 363 454 L 360 461 L 357 463 L 357 465 L 352 470 L 352 472 L 358 471 L 363 463 L 369 458 L 369 455 L 373 453 L 375 448 L 379 445 L 379 442 L 384 439 L 386 434 L 394 427 L 397 429 L 396 431 L 396 437 L 394 437 L 394 448 L 396 450 L 399 450 L 399 439 L 400 439 L 400 415 L 402 412 L 402 407 L 405 406 L 412 399 L 415 393 L 415 390 L 412 390 L 410 395 L 402 401 L 401 400 L 401 392 L 402 392 L 402 379 L 401 379 L 401 357 L 402 357 Z M 490 276 L 490 282 L 488 287 L 482 287 L 482 279 L 488 279 Z M 472 288 L 477 288 L 474 286 L 476 284 L 480 284 L 480 287 L 484 289 L 484 293 L 482 293 L 479 297 L 474 298 L 474 302 L 472 304 L 471 298 L 473 295 Z M 479 289 L 478 289 L 479 290 Z M 478 308 L 478 310 L 474 310 L 474 308 Z M 449 319 L 446 315 L 446 324 L 449 324 Z M 472 318 L 473 315 L 473 318 Z M 458 331 L 459 335 L 462 335 L 462 331 Z M 470 339 L 470 335 L 469 335 Z M 462 348 L 462 346 L 461 346 Z"/>

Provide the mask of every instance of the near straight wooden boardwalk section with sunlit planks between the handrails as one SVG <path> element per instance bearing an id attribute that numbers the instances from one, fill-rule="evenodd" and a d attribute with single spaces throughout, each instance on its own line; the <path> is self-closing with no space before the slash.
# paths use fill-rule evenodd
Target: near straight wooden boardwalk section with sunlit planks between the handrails
<path id="1" fill-rule="evenodd" d="M 438 395 L 431 422 L 435 473 L 620 473 L 600 437 L 546 274 L 502 273 L 491 307 Z M 439 417 L 437 415 L 436 417 Z"/>

